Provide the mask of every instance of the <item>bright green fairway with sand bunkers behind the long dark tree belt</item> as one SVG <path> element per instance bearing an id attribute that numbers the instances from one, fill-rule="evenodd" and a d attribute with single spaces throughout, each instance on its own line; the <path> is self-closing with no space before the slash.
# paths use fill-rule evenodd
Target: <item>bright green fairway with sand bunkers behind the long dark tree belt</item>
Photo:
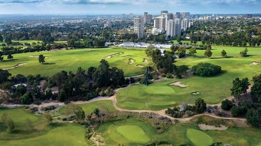
<path id="1" fill-rule="evenodd" d="M 111 54 L 122 53 L 111 58 L 106 58 Z M 46 63 L 41 65 L 38 63 L 38 58 L 30 56 L 39 56 L 43 54 Z M 147 58 L 144 49 L 130 50 L 130 49 L 73 49 L 61 51 L 41 51 L 26 54 L 13 54 L 13 60 L 3 60 L 0 62 L 0 68 L 8 68 L 17 65 L 18 63 L 26 63 L 13 70 L 8 70 L 11 74 L 42 74 L 44 76 L 51 76 L 61 70 L 67 72 L 76 72 L 78 67 L 88 70 L 88 67 L 97 67 L 100 65 L 100 60 L 108 60 L 111 67 L 116 66 L 125 72 L 125 76 L 133 76 L 143 74 L 145 66 L 150 65 L 151 61 L 148 58 L 148 63 L 143 63 L 143 58 Z M 6 56 L 4 56 L 6 58 Z M 129 58 L 134 59 L 134 63 L 129 65 Z M 142 64 L 144 67 L 136 67 Z"/>

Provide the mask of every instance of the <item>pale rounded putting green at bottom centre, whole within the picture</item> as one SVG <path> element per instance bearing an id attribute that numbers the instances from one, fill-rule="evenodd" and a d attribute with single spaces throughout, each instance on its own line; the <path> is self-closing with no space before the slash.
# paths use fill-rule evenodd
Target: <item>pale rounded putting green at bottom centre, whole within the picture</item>
<path id="1" fill-rule="evenodd" d="M 150 138 L 141 127 L 136 125 L 122 125 L 113 129 L 111 138 L 118 143 L 140 143 L 150 142 Z"/>

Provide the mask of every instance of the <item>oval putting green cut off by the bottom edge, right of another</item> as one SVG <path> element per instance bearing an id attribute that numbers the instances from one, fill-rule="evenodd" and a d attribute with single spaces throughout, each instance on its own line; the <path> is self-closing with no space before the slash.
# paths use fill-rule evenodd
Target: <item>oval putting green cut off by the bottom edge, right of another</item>
<path id="1" fill-rule="evenodd" d="M 211 145 L 213 143 L 212 138 L 207 133 L 196 129 L 187 129 L 187 137 L 196 146 Z"/>

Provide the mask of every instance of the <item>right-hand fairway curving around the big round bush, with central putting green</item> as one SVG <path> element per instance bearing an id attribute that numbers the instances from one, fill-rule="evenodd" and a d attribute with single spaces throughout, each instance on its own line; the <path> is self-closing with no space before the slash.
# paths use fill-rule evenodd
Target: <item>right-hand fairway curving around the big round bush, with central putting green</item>
<path id="1" fill-rule="evenodd" d="M 226 49 L 228 56 L 232 57 L 221 58 L 222 49 Z M 223 73 L 212 77 L 191 76 L 183 79 L 168 79 L 149 86 L 136 85 L 122 89 L 117 95 L 118 106 L 128 109 L 159 110 L 180 105 L 182 102 L 193 104 L 198 97 L 203 98 L 207 104 L 217 104 L 230 96 L 232 81 L 236 77 L 240 79 L 247 77 L 252 83 L 253 76 L 261 73 L 261 65 L 250 65 L 253 61 L 261 60 L 261 48 L 249 48 L 248 57 L 238 55 L 242 50 L 244 48 L 214 47 L 213 58 L 210 59 L 203 56 L 205 50 L 197 50 L 196 56 L 177 60 L 175 65 L 187 65 L 191 68 L 198 63 L 212 63 L 220 65 Z M 175 81 L 181 81 L 187 87 L 169 85 Z M 200 92 L 200 95 L 192 95 L 193 91 Z"/>

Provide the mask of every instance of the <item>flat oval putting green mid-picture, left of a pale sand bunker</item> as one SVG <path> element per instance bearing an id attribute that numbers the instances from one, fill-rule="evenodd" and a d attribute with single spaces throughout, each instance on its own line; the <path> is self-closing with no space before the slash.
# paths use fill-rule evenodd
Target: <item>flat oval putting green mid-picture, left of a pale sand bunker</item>
<path id="1" fill-rule="evenodd" d="M 168 86 L 148 86 L 145 88 L 145 92 L 148 94 L 155 94 L 155 95 L 170 95 L 174 94 L 175 90 L 173 88 L 170 88 Z"/>

